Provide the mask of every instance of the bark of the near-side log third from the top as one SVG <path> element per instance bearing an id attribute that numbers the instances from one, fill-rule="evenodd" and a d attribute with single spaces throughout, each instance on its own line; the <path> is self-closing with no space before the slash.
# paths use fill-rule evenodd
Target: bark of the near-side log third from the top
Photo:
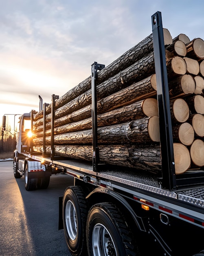
<path id="1" fill-rule="evenodd" d="M 153 76 L 149 76 L 148 78 L 143 79 L 138 83 L 134 83 L 129 87 L 120 90 L 119 92 L 101 99 L 97 102 L 97 113 L 100 115 L 102 113 L 114 110 L 116 108 L 121 108 L 122 106 L 127 106 L 136 101 L 140 101 L 141 99 L 145 99 L 145 97 L 150 97 L 156 94 L 156 90 L 152 86 L 152 83 L 155 83 L 154 79 L 152 79 Z M 55 119 L 55 127 L 87 119 L 91 117 L 91 109 L 92 106 L 88 105 L 70 113 L 69 115 Z M 50 115 L 46 116 L 46 122 L 50 121 Z M 39 126 L 42 126 L 42 124 L 43 119 L 38 119 L 36 122 L 34 122 L 34 126 L 37 128 L 37 130 L 43 129 L 43 127 L 39 128 Z M 49 129 L 50 127 L 51 123 L 47 123 L 46 129 Z"/>

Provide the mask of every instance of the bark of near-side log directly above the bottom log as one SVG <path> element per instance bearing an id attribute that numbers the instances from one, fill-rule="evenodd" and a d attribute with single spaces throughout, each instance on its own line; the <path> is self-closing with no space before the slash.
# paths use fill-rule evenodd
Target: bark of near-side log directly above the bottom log
<path id="1" fill-rule="evenodd" d="M 99 144 L 130 144 L 152 142 L 148 133 L 149 118 L 98 128 Z M 46 137 L 50 145 L 51 137 Z M 33 139 L 33 144 L 42 145 L 43 138 Z M 92 144 L 92 130 L 69 132 L 54 136 L 54 144 Z"/>

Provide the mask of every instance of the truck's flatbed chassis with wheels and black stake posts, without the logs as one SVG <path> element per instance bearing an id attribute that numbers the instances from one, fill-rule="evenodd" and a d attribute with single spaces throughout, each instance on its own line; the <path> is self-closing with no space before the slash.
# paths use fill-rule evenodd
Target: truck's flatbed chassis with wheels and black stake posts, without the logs
<path id="1" fill-rule="evenodd" d="M 152 16 L 152 28 L 162 175 L 99 162 L 96 83 L 103 65 L 98 63 L 92 65 L 92 162 L 55 156 L 54 125 L 51 155 L 32 147 L 30 153 L 15 150 L 14 176 L 25 176 L 27 190 L 46 188 L 55 173 L 74 177 L 73 186 L 59 198 L 59 229 L 64 228 L 72 255 L 204 255 L 204 170 L 175 175 L 160 12 Z"/>

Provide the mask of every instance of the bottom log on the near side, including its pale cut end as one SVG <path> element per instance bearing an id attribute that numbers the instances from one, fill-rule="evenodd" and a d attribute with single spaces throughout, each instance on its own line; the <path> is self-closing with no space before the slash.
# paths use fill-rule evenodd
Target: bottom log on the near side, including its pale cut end
<path id="1" fill-rule="evenodd" d="M 36 152 L 42 152 L 42 147 L 34 147 Z M 51 148 L 46 147 L 46 153 Z M 175 173 L 180 174 L 188 170 L 191 164 L 189 150 L 182 144 L 174 143 Z M 92 146 L 55 146 L 55 155 L 92 161 Z M 106 164 L 125 166 L 152 172 L 161 170 L 160 146 L 140 145 L 124 146 L 99 146 L 99 158 Z"/>

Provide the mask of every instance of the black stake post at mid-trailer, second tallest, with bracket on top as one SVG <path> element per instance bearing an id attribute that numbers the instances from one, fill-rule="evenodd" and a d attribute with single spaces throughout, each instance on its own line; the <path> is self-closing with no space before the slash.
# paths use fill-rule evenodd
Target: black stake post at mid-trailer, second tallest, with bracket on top
<path id="1" fill-rule="evenodd" d="M 91 93 L 92 93 L 92 145 L 93 145 L 93 171 L 98 171 L 99 148 L 98 148 L 98 126 L 97 126 L 97 70 L 102 70 L 103 64 L 94 62 L 91 65 Z"/>

